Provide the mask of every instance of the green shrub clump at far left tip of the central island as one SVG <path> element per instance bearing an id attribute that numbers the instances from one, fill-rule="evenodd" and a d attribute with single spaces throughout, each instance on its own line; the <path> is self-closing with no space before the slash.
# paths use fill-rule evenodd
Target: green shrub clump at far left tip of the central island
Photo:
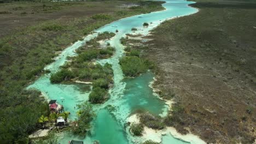
<path id="1" fill-rule="evenodd" d="M 70 80 L 74 78 L 74 74 L 72 71 L 67 69 L 61 69 L 61 71 L 58 71 L 55 74 L 51 74 L 50 81 L 52 83 L 60 83 L 65 80 Z"/>

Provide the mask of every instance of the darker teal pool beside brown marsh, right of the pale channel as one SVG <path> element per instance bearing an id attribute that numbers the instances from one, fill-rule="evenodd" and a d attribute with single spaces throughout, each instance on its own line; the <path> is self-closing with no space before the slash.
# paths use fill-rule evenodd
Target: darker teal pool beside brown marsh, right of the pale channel
<path id="1" fill-rule="evenodd" d="M 136 79 L 125 79 L 126 87 L 124 91 L 124 104 L 131 112 L 146 110 L 155 115 L 159 115 L 167 109 L 164 101 L 153 94 L 152 88 L 148 85 L 153 81 L 152 73 L 146 73 Z"/>

